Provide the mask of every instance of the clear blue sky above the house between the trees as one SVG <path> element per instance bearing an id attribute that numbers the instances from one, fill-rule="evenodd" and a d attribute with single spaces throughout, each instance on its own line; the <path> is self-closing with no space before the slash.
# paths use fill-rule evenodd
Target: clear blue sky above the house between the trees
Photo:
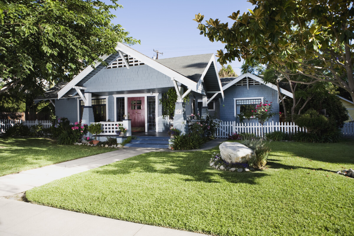
<path id="1" fill-rule="evenodd" d="M 105 0 L 109 3 L 109 0 Z M 199 35 L 198 23 L 193 21 L 195 14 L 204 15 L 204 20 L 218 18 L 221 22 L 232 23 L 227 18 L 233 12 L 253 9 L 246 0 L 180 0 L 180 1 L 141 1 L 120 0 L 123 9 L 114 13 L 116 18 L 112 23 L 121 24 L 130 32 L 130 36 L 141 40 L 141 45 L 132 48 L 153 57 L 153 49 L 164 54 L 159 54 L 159 59 L 179 57 L 195 54 L 214 53 L 223 49 L 221 42 L 210 42 L 203 35 Z M 231 63 L 233 69 L 240 75 L 242 62 Z M 218 69 L 220 69 L 218 64 Z"/>

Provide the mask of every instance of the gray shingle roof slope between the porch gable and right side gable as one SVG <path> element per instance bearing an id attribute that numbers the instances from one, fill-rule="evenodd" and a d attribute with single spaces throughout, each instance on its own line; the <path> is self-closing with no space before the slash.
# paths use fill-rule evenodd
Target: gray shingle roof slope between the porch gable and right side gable
<path id="1" fill-rule="evenodd" d="M 159 59 L 156 61 L 178 72 L 179 74 L 184 75 L 188 79 L 198 82 L 213 55 L 214 54 L 212 53 L 208 53 L 192 56 L 172 57 Z"/>

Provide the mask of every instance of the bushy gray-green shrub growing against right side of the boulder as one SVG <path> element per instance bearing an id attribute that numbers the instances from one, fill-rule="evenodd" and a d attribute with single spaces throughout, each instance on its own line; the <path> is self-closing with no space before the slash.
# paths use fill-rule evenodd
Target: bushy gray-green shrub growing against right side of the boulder
<path id="1" fill-rule="evenodd" d="M 267 159 L 271 150 L 266 145 L 265 141 L 262 139 L 243 139 L 240 143 L 256 153 L 256 157 L 251 158 L 249 161 L 250 166 L 261 168 L 267 164 Z"/>

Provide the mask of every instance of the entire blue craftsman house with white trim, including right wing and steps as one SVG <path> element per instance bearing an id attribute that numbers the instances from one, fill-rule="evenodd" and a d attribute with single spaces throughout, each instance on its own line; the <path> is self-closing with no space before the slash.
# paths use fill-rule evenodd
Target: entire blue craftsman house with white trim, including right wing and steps
<path id="1" fill-rule="evenodd" d="M 99 140 L 116 136 L 116 125 L 121 123 L 128 129 L 126 136 L 132 132 L 143 135 L 134 141 L 137 145 L 167 147 L 168 137 L 161 134 L 172 123 L 182 133 L 188 132 L 191 114 L 205 116 L 208 109 L 218 119 L 235 120 L 242 105 L 264 99 L 272 100 L 279 109 L 275 85 L 264 85 L 261 78 L 249 73 L 221 80 L 213 54 L 154 60 L 118 43 L 116 53 L 101 59 L 107 64 L 96 62 L 94 68 L 85 68 L 72 81 L 35 99 L 50 100 L 56 116 L 70 122 L 101 123 Z M 164 118 L 159 99 L 170 88 L 178 96 L 175 115 Z M 189 97 L 187 104 L 182 103 L 185 96 Z"/>

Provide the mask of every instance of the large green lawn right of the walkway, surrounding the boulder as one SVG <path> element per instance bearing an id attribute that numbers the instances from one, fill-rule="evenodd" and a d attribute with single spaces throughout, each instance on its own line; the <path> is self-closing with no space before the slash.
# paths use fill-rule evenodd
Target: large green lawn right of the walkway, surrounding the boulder
<path id="1" fill-rule="evenodd" d="M 70 211 L 213 235 L 352 235 L 354 140 L 272 142 L 267 169 L 209 167 L 218 148 L 150 152 L 53 181 L 28 200 Z"/>

